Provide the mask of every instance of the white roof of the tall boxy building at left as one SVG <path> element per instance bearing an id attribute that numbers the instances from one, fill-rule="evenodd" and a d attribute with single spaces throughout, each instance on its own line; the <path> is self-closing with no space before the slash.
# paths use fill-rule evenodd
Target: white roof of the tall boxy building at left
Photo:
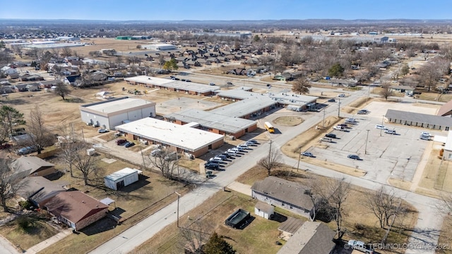
<path id="1" fill-rule="evenodd" d="M 109 99 L 105 102 L 95 102 L 90 104 L 85 104 L 81 106 L 81 109 L 91 109 L 94 111 L 99 111 L 106 114 L 111 114 L 117 111 L 122 111 L 126 109 L 133 109 L 135 107 L 141 107 L 148 104 L 149 106 L 155 105 L 155 102 L 150 102 L 145 99 L 136 99 L 129 97 L 121 97 L 117 99 Z"/>

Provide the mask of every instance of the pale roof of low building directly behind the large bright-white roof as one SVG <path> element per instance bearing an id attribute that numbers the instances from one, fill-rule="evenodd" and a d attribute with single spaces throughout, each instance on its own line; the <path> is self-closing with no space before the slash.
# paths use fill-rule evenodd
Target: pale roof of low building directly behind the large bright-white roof
<path id="1" fill-rule="evenodd" d="M 239 131 L 256 124 L 256 121 L 232 116 L 223 116 L 221 114 L 215 114 L 211 111 L 203 111 L 200 109 L 186 109 L 165 116 L 166 119 L 170 117 L 174 117 L 174 119 L 185 123 L 199 123 L 201 126 L 225 131 L 227 133 L 238 133 Z"/>

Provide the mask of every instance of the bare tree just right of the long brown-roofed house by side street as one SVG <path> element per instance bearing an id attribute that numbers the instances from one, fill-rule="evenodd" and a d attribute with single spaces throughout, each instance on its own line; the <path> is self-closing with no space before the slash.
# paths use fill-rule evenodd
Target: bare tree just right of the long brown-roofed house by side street
<path id="1" fill-rule="evenodd" d="M 326 179 L 325 183 L 322 185 L 322 188 L 322 198 L 328 200 L 328 204 L 334 208 L 333 217 L 336 222 L 336 233 L 340 239 L 343 236 L 343 205 L 347 200 L 348 193 L 350 192 L 350 183 L 347 183 L 342 179 Z"/>

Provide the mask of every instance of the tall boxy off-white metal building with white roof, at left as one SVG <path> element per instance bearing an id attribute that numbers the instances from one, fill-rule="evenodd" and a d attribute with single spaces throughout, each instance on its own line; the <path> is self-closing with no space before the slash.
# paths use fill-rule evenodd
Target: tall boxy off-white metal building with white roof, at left
<path id="1" fill-rule="evenodd" d="M 155 116 L 155 102 L 129 97 L 94 102 L 79 108 L 82 121 L 107 129 L 113 129 L 124 121 Z"/>

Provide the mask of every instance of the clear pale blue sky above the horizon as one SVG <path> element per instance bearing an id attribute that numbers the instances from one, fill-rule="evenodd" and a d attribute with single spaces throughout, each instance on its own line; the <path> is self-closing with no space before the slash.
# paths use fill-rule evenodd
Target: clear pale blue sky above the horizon
<path id="1" fill-rule="evenodd" d="M 0 18 L 19 19 L 452 19 L 450 0 L 0 0 L 0 6 Z"/>

